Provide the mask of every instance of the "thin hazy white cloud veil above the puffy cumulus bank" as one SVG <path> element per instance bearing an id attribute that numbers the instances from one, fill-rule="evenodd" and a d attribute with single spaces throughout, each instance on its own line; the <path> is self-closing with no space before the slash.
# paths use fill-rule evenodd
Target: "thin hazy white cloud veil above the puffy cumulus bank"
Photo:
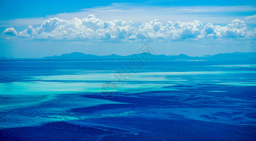
<path id="1" fill-rule="evenodd" d="M 157 7 L 157 6 L 138 6 L 131 3 L 113 3 L 106 7 L 93 7 L 80 9 L 77 12 L 59 13 L 39 18 L 11 19 L 1 21 L 0 26 L 24 26 L 41 24 L 48 18 L 58 17 L 64 20 L 72 20 L 74 17 L 79 19 L 93 14 L 102 20 L 121 19 L 132 21 L 135 24 L 149 22 L 152 19 L 159 19 L 164 24 L 168 21 L 194 21 L 200 20 L 203 24 L 228 24 L 233 19 L 243 19 L 245 13 L 256 12 L 254 6 L 191 6 L 191 7 Z M 253 18 L 247 16 L 245 19 Z M 248 24 L 255 24 L 255 21 L 247 21 Z"/>

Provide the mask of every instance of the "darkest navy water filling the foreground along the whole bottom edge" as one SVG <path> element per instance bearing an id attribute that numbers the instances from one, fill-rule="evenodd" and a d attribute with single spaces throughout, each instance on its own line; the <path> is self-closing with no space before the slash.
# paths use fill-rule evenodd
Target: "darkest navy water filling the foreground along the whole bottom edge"
<path id="1" fill-rule="evenodd" d="M 91 125 L 53 122 L 35 127 L 0 130 L 1 141 L 27 140 L 243 140 L 254 141 L 256 125 L 230 125 L 191 119 L 100 118 L 86 120 Z M 97 124 L 97 125 L 93 125 Z M 120 129 L 121 128 L 121 129 Z"/>

